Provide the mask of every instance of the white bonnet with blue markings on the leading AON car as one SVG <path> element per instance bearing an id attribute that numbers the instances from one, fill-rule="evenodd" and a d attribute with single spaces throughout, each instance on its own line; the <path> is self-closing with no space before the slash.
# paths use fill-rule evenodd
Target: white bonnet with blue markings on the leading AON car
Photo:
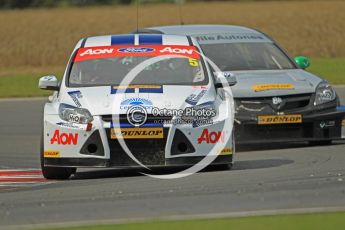
<path id="1" fill-rule="evenodd" d="M 61 103 L 87 108 L 92 115 L 125 114 L 133 105 L 181 109 L 215 100 L 210 86 L 182 85 L 69 88 L 60 96 Z"/>

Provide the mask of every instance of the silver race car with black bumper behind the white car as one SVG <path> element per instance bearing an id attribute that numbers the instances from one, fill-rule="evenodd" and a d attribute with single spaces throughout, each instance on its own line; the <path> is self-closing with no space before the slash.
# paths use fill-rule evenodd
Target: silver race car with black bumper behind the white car
<path id="1" fill-rule="evenodd" d="M 304 70 L 310 65 L 308 58 L 291 59 L 267 35 L 223 25 L 163 26 L 140 32 L 190 35 L 223 72 L 236 77 L 236 143 L 326 144 L 341 138 L 345 112 L 337 110 L 335 90 Z"/>

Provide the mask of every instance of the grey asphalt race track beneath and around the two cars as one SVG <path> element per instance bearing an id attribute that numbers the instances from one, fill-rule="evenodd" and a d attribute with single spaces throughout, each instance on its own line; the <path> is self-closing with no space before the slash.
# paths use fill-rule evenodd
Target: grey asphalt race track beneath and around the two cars
<path id="1" fill-rule="evenodd" d="M 338 93 L 345 102 L 345 88 L 338 88 Z M 0 169 L 39 168 L 43 104 L 42 99 L 0 101 Z M 152 179 L 130 170 L 84 170 L 68 181 L 4 186 L 0 187 L 0 228 L 300 208 L 345 209 L 344 147 L 341 141 L 313 147 L 304 143 L 246 146 L 236 154 L 231 171 L 210 170 L 176 180 Z"/>

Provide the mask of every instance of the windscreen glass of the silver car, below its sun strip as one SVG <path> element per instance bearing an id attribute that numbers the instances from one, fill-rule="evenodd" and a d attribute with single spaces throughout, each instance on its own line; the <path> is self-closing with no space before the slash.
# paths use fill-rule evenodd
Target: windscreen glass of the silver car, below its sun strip
<path id="1" fill-rule="evenodd" d="M 217 43 L 201 47 L 222 71 L 296 68 L 273 43 Z"/>

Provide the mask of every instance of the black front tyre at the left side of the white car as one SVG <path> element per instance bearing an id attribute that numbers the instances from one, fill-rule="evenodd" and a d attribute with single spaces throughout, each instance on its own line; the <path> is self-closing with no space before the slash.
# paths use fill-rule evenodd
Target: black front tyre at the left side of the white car
<path id="1" fill-rule="evenodd" d="M 67 167 L 46 167 L 44 166 L 44 147 L 43 147 L 43 135 L 41 139 L 41 150 L 40 150 L 41 170 L 44 178 L 52 180 L 67 180 L 72 174 L 75 174 L 76 168 Z"/>

